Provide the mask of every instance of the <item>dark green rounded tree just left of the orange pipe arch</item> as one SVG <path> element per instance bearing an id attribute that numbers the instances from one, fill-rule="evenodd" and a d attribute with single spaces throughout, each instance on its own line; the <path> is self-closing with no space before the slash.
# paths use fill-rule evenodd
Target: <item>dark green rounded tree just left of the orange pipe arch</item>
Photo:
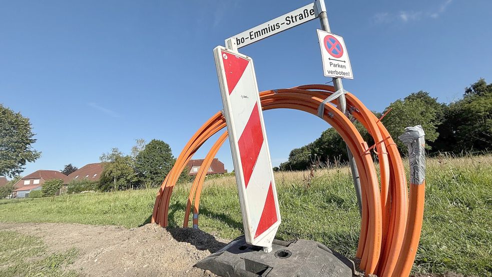
<path id="1" fill-rule="evenodd" d="M 135 169 L 146 184 L 156 186 L 166 178 L 175 162 L 169 144 L 153 139 L 136 155 Z"/>

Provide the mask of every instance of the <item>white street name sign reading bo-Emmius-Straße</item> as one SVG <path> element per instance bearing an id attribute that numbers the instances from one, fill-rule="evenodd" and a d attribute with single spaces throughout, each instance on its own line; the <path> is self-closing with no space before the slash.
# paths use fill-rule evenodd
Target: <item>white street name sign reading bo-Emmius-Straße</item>
<path id="1" fill-rule="evenodd" d="M 236 36 L 230 37 L 226 40 L 226 46 L 227 41 L 231 40 L 231 42 L 239 49 L 243 46 L 247 46 L 292 27 L 296 27 L 297 25 L 311 21 L 317 17 L 316 4 L 313 2 L 288 14 L 270 20 L 269 22 L 246 30 Z"/>

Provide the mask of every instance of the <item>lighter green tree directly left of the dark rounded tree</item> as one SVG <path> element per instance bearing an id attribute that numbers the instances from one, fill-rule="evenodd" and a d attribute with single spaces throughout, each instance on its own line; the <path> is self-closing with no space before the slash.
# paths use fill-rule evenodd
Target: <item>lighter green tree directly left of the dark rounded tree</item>
<path id="1" fill-rule="evenodd" d="M 100 190 L 123 190 L 139 184 L 132 157 L 123 155 L 118 148 L 101 155 L 100 159 L 104 163 L 99 179 Z"/>

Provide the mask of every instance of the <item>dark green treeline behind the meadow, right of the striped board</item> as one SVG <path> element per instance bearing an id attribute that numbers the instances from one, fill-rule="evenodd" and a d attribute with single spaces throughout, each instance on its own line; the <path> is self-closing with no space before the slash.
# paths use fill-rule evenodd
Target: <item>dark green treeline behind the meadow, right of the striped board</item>
<path id="1" fill-rule="evenodd" d="M 437 102 L 429 93 L 419 91 L 389 104 L 381 117 L 386 129 L 395 140 L 400 153 L 407 149 L 397 139 L 408 126 L 422 125 L 425 131 L 427 152 L 483 152 L 492 148 L 492 84 L 484 79 L 465 88 L 463 97 L 449 104 Z M 355 126 L 370 145 L 374 144 L 367 130 L 359 123 Z M 275 170 L 305 170 L 314 161 L 332 164 L 347 161 L 345 143 L 334 128 L 329 128 L 315 141 L 290 151 L 287 162 Z"/>

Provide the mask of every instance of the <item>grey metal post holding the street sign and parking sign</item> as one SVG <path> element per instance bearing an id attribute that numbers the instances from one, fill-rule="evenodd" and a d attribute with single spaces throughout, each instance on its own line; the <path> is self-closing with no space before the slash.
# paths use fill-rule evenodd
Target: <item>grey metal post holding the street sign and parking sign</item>
<path id="1" fill-rule="evenodd" d="M 330 24 L 328 23 L 328 14 L 326 13 L 326 6 L 324 0 L 315 0 L 317 13 L 319 15 L 319 21 L 321 23 L 321 29 L 326 32 L 330 32 Z M 342 79 L 333 78 L 333 86 L 335 90 L 343 89 Z M 345 94 L 340 95 L 337 98 L 338 109 L 345 114 L 347 102 L 345 100 Z M 354 180 L 355 194 L 357 195 L 357 204 L 359 205 L 359 214 L 362 215 L 362 202 L 361 202 L 361 190 L 360 190 L 360 178 L 357 171 L 357 165 L 355 164 L 355 159 L 348 149 L 347 146 L 348 161 L 350 164 L 350 169 L 352 171 L 352 178 Z"/>

